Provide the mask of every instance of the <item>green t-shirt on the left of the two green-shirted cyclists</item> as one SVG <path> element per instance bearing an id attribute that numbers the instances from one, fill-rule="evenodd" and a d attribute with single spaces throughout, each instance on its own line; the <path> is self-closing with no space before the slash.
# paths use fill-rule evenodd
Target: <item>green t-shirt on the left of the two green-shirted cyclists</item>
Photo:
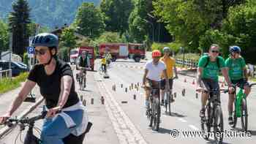
<path id="1" fill-rule="evenodd" d="M 208 61 L 208 64 L 207 64 L 207 61 Z M 218 67 L 217 61 L 219 61 L 219 67 Z M 203 68 L 202 78 L 209 78 L 209 79 L 218 81 L 219 70 L 225 67 L 225 61 L 221 56 L 218 56 L 216 61 L 210 61 L 209 56 L 202 56 L 199 59 L 198 67 Z"/>

